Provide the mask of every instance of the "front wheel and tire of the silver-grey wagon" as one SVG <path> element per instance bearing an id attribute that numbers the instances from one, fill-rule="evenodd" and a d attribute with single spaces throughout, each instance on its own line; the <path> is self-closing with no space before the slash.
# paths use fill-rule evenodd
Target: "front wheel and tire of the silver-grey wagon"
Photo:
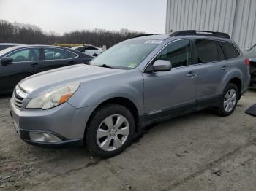
<path id="1" fill-rule="evenodd" d="M 86 144 L 98 157 L 113 157 L 132 142 L 135 120 L 129 109 L 118 104 L 106 104 L 91 117 L 86 132 Z"/>

